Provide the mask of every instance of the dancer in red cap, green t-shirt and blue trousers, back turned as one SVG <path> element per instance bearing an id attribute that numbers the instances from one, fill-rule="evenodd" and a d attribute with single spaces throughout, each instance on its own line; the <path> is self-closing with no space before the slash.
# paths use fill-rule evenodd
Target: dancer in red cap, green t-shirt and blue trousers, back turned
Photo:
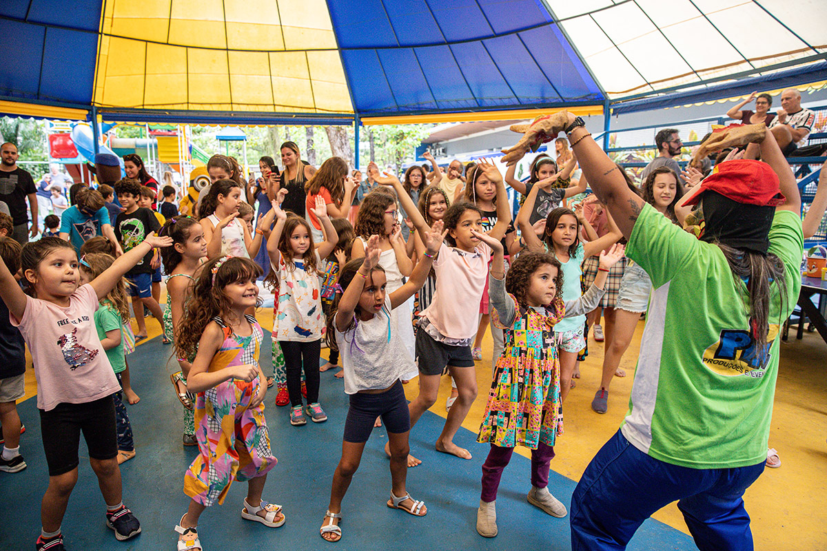
<path id="1" fill-rule="evenodd" d="M 795 178 L 772 132 L 726 131 L 729 146 L 760 142 L 745 156 L 760 150 L 762 162 L 725 161 L 692 192 L 686 204 L 704 211 L 698 240 L 629 190 L 582 119 L 567 123 L 627 256 L 653 284 L 629 414 L 577 484 L 571 547 L 625 549 L 677 500 L 701 551 L 753 549 L 743 493 L 767 461 L 777 337 L 801 288 Z"/>

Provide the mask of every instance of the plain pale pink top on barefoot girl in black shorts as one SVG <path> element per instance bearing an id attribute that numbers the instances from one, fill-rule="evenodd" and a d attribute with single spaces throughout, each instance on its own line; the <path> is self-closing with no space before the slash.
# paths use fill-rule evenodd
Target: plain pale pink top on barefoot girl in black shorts
<path id="1" fill-rule="evenodd" d="M 471 339 L 476 335 L 490 258 L 491 248 L 485 243 L 476 245 L 473 253 L 443 243 L 433 262 L 437 291 L 430 306 L 419 316 L 427 317 L 449 339 Z"/>

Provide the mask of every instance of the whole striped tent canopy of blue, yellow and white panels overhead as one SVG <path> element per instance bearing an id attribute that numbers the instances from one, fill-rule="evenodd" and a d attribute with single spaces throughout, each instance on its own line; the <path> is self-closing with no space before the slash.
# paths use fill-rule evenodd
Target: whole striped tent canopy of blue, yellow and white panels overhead
<path id="1" fill-rule="evenodd" d="M 808 0 L 4 0 L 0 112 L 237 123 L 600 112 L 782 70 L 818 80 L 824 21 L 827 2 Z"/>

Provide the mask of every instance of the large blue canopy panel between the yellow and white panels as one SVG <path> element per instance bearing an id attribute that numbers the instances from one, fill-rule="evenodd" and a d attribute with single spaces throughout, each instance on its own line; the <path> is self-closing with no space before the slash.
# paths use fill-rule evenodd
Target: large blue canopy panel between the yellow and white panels
<path id="1" fill-rule="evenodd" d="M 541 2 L 365 0 L 327 5 L 360 115 L 604 99 Z"/>

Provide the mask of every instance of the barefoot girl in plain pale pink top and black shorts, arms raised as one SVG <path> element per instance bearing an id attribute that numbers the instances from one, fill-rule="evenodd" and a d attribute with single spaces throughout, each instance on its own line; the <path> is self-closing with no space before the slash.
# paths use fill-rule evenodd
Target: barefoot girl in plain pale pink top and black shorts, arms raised
<path id="1" fill-rule="evenodd" d="M 508 197 L 500 171 L 494 164 L 480 159 L 479 170 L 495 184 L 497 221 L 488 235 L 501 240 L 511 222 Z M 414 207 L 414 201 L 404 192 L 402 184 L 390 175 L 375 176 L 377 182 L 391 185 L 396 190 L 405 212 L 409 213 L 420 237 L 426 240 L 428 225 Z M 430 306 L 419 313 L 419 329 L 416 335 L 416 356 L 419 368 L 419 396 L 409 404 L 411 426 L 437 401 L 439 380 L 445 368 L 457 382 L 459 395 L 448 411 L 442 434 L 436 442 L 437 451 L 471 459 L 467 449 L 453 443 L 462 420 L 468 414 L 476 398 L 476 372 L 471 358 L 471 343 L 478 326 L 485 280 L 488 278 L 488 262 L 491 248 L 485 245 L 475 232 L 482 232 L 482 212 L 479 207 L 466 201 L 453 204 L 442 217 L 448 232 L 446 240 L 452 246 L 442 244 L 433 261 L 437 273 L 437 290 Z M 387 446 L 385 451 L 388 452 Z M 409 466 L 418 460 L 409 457 Z"/>

